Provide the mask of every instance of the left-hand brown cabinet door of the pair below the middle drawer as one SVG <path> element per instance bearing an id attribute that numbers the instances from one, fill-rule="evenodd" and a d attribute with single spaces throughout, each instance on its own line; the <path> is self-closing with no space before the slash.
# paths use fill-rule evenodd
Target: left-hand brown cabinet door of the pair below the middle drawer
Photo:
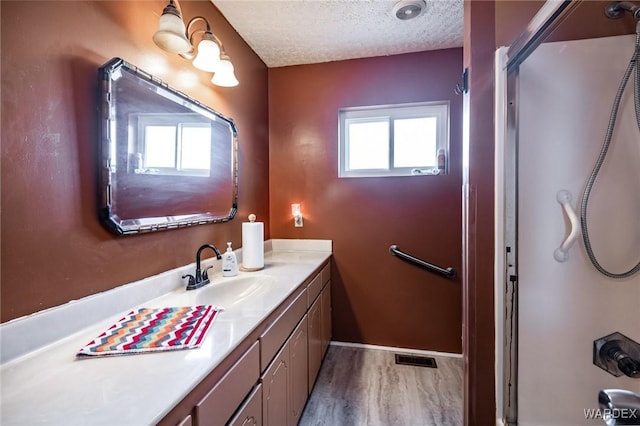
<path id="1" fill-rule="evenodd" d="M 276 354 L 262 381 L 262 424 L 286 426 L 290 418 L 289 342 Z"/>

